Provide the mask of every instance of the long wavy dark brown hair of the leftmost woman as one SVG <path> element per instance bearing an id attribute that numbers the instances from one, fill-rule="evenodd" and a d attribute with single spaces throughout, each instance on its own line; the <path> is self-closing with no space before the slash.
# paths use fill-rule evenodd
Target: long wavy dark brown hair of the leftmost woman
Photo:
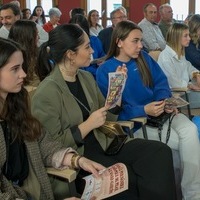
<path id="1" fill-rule="evenodd" d="M 0 69 L 16 51 L 21 51 L 26 65 L 26 54 L 20 45 L 12 40 L 0 38 Z M 28 92 L 22 87 L 18 93 L 9 93 L 6 100 L 0 97 L 0 119 L 9 124 L 14 139 L 33 141 L 39 137 L 41 126 L 31 115 Z"/>

